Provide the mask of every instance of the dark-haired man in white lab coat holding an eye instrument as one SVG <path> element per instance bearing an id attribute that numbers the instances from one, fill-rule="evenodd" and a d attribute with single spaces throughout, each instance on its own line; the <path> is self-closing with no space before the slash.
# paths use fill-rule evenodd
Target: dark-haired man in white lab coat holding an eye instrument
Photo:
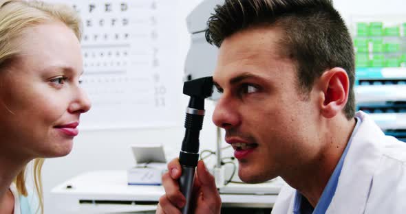
<path id="1" fill-rule="evenodd" d="M 273 213 L 403 213 L 406 145 L 355 113 L 352 40 L 328 0 L 234 0 L 206 31 L 220 47 L 213 114 L 248 183 L 281 176 Z M 162 177 L 157 213 L 180 213 L 178 160 Z M 197 165 L 194 213 L 220 213 L 213 177 Z"/>

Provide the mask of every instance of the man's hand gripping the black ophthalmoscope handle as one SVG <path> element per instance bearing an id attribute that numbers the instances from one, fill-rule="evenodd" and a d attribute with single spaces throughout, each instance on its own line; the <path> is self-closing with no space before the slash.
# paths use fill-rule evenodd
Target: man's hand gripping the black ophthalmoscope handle
<path id="1" fill-rule="evenodd" d="M 181 213 L 180 209 L 185 205 L 186 198 L 180 191 L 178 180 L 182 175 L 182 167 L 178 158 L 168 164 L 168 171 L 162 176 L 162 185 L 165 195 L 162 195 L 157 214 Z M 197 163 L 195 180 L 193 181 L 193 200 L 191 200 L 192 213 L 217 214 L 220 213 L 222 200 L 215 187 L 214 177 L 207 171 L 203 161 Z"/>

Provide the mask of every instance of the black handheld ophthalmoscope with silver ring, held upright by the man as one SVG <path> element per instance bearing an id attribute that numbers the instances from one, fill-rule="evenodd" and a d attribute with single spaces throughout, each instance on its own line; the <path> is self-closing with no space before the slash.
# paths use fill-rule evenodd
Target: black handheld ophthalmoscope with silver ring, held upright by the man
<path id="1" fill-rule="evenodd" d="M 183 93 L 190 96 L 189 105 L 186 108 L 186 128 L 182 149 L 179 154 L 179 162 L 182 165 L 182 176 L 179 180 L 180 191 L 186 198 L 186 204 L 182 213 L 189 213 L 190 200 L 193 198 L 191 190 L 195 176 L 195 167 L 199 160 L 199 134 L 203 126 L 204 99 L 213 94 L 213 78 L 199 78 L 184 82 Z"/>

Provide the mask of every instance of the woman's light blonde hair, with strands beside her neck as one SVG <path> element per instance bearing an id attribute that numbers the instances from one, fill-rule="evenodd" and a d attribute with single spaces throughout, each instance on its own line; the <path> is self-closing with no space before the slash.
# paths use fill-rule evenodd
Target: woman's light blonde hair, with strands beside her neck
<path id="1" fill-rule="evenodd" d="M 64 23 L 72 29 L 78 40 L 81 40 L 81 19 L 70 6 L 41 1 L 0 0 L 0 72 L 1 68 L 5 67 L 8 62 L 12 62 L 19 56 L 19 44 L 16 40 L 23 34 L 24 29 L 53 21 Z M 41 213 L 43 213 L 41 183 L 43 162 L 43 158 L 36 158 L 33 164 L 34 185 L 39 198 L 38 209 L 41 210 Z M 14 179 L 14 182 L 19 193 L 27 196 L 25 167 Z"/>

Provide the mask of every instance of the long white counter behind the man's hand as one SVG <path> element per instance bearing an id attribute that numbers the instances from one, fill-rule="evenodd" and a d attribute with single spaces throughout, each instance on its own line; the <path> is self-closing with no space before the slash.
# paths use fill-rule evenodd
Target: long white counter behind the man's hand
<path id="1" fill-rule="evenodd" d="M 227 185 L 220 189 L 220 192 L 224 190 L 220 194 L 222 207 L 270 208 L 275 203 L 281 185 L 283 183 L 280 181 L 259 185 Z M 262 191 L 244 191 L 250 187 L 254 191 Z M 91 171 L 54 187 L 51 198 L 61 212 L 125 213 L 155 211 L 163 194 L 162 186 L 127 185 L 127 171 Z"/>

